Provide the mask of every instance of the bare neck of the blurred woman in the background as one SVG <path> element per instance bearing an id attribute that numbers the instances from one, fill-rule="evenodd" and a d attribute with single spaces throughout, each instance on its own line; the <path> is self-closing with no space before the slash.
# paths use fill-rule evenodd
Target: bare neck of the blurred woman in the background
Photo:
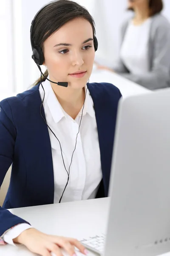
<path id="1" fill-rule="evenodd" d="M 149 7 L 148 5 L 142 5 L 142 6 L 137 6 L 135 8 L 135 17 L 134 20 L 136 22 L 143 22 L 149 17 Z"/>

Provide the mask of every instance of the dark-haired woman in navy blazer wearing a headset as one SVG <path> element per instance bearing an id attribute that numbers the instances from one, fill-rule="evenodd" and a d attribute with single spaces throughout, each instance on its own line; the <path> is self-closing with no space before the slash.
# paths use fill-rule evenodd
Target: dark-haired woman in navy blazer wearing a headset
<path id="1" fill-rule="evenodd" d="M 76 239 L 42 233 L 7 209 L 108 196 L 121 93 L 113 84 L 88 82 L 97 39 L 93 18 L 79 4 L 58 0 L 40 9 L 31 47 L 40 79 L 0 102 L 0 186 L 12 164 L 0 244 L 24 244 L 42 256 L 61 256 L 61 248 L 73 256 L 74 247 L 87 254 Z"/>

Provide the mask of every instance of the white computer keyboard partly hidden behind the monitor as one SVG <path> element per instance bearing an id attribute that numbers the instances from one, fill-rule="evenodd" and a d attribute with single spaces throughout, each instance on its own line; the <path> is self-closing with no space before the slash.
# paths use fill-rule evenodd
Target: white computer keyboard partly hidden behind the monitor
<path id="1" fill-rule="evenodd" d="M 105 234 L 100 236 L 91 236 L 86 239 L 79 240 L 87 249 L 99 253 L 100 255 L 104 252 L 105 246 Z"/>

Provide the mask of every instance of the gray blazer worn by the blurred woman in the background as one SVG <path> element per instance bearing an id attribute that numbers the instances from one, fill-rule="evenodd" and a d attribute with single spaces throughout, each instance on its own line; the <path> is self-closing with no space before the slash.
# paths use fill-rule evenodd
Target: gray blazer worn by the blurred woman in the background
<path id="1" fill-rule="evenodd" d="M 125 37 L 128 22 L 129 19 L 122 25 L 121 44 Z M 156 14 L 152 17 L 149 60 L 150 71 L 144 75 L 130 73 L 120 57 L 113 66 L 113 70 L 150 90 L 170 87 L 170 23 L 161 14 Z"/>

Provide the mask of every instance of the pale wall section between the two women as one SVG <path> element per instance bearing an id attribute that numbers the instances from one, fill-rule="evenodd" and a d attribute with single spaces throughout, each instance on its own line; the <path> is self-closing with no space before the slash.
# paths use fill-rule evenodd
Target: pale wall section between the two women
<path id="1" fill-rule="evenodd" d="M 120 27 L 122 21 L 129 15 L 125 11 L 127 0 L 98 0 L 94 12 L 96 36 L 99 41 L 99 51 L 96 57 L 103 63 L 111 65 L 117 58 L 120 44 Z M 97 58 L 96 58 L 97 59 Z"/>

